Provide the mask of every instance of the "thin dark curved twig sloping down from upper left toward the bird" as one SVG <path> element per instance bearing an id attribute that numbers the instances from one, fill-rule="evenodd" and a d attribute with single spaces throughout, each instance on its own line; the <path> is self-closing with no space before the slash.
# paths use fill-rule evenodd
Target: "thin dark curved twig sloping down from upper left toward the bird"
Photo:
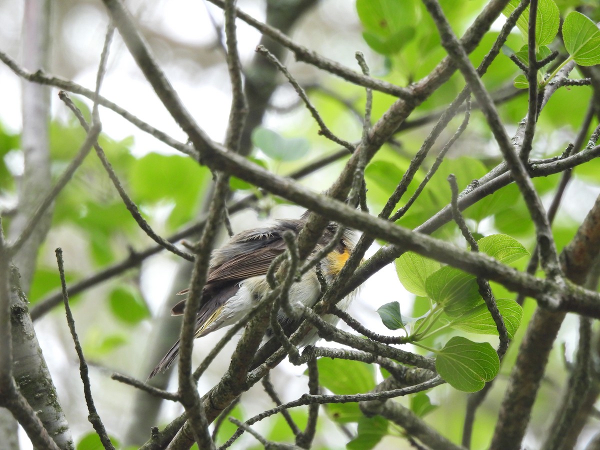
<path id="1" fill-rule="evenodd" d="M 73 111 L 73 114 L 79 120 L 79 123 L 81 124 L 82 128 L 85 131 L 89 131 L 89 125 L 86 122 L 85 118 L 83 117 L 82 112 L 73 103 L 73 101 L 68 96 L 68 94 L 64 91 L 61 91 L 58 93 L 58 97 L 62 101 L 64 101 L 64 103 L 67 105 L 67 107 L 71 111 Z M 136 203 L 133 202 L 133 200 L 131 200 L 131 198 L 125 192 L 125 189 L 124 189 L 123 185 L 121 184 L 121 181 L 119 181 L 119 178 L 115 173 L 115 170 L 113 169 L 109 160 L 107 160 L 106 154 L 104 153 L 104 150 L 102 149 L 100 144 L 98 144 L 98 142 L 94 143 L 94 149 L 96 151 L 96 154 L 98 155 L 98 158 L 100 158 L 100 161 L 102 163 L 102 166 L 104 167 L 104 170 L 106 170 L 106 173 L 109 175 L 110 181 L 113 182 L 113 185 L 115 186 L 116 190 L 118 191 L 119 196 L 121 196 L 121 200 L 125 204 L 127 211 L 129 211 L 131 213 L 131 217 L 134 218 L 134 220 L 136 221 L 136 223 L 138 224 L 140 229 L 142 229 L 142 231 L 145 232 L 146 235 L 148 235 L 154 242 L 156 242 L 161 247 L 165 248 L 166 250 L 170 251 L 173 254 L 176 254 L 177 256 L 182 257 L 185 260 L 193 262 L 194 256 L 192 254 L 187 253 L 187 251 L 179 250 L 179 248 L 175 247 L 175 245 L 171 244 L 166 239 L 161 238 L 161 236 L 158 236 L 157 233 L 155 233 L 154 230 L 152 230 L 152 227 L 150 226 L 150 224 L 145 220 L 145 218 L 143 218 L 142 214 L 140 213 L 139 209 L 137 208 Z"/>

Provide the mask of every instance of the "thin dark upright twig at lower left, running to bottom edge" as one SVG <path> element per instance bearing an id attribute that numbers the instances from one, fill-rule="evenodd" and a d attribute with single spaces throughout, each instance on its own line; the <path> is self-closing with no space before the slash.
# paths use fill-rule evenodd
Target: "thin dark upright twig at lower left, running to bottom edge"
<path id="1" fill-rule="evenodd" d="M 88 364 L 85 362 L 85 356 L 83 356 L 83 350 L 79 343 L 79 337 L 77 337 L 77 331 L 75 330 L 75 319 L 73 319 L 73 313 L 71 313 L 71 307 L 69 306 L 69 295 L 67 293 L 67 282 L 65 281 L 65 268 L 62 260 L 62 248 L 57 248 L 56 262 L 58 263 L 58 272 L 61 276 L 61 287 L 62 287 L 62 298 L 65 304 L 65 313 L 67 314 L 67 324 L 73 343 L 75 344 L 75 351 L 77 352 L 77 358 L 79 358 L 79 373 L 83 382 L 83 395 L 85 396 L 85 403 L 88 405 L 88 420 L 94 427 L 94 430 L 100 437 L 100 442 L 106 450 L 114 450 L 115 446 L 110 442 L 110 438 L 106 433 L 106 428 L 98 415 L 98 411 L 94 406 L 94 397 L 92 397 L 92 388 L 89 382 L 89 370 Z"/>

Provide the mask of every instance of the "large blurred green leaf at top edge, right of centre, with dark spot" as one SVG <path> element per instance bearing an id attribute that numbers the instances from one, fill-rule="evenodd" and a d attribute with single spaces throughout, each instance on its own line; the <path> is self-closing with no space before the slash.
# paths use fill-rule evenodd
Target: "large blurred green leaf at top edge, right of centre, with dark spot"
<path id="1" fill-rule="evenodd" d="M 416 10 L 411 2 L 357 0 L 365 42 L 377 53 L 394 55 L 415 37 Z"/>

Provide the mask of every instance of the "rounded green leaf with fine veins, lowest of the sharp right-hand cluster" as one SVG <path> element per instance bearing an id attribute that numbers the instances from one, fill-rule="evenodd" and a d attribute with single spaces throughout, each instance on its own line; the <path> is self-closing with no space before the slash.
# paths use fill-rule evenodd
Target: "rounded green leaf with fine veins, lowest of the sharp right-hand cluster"
<path id="1" fill-rule="evenodd" d="M 437 373 L 453 388 L 476 392 L 496 377 L 500 359 L 490 344 L 453 337 L 436 358 Z"/>

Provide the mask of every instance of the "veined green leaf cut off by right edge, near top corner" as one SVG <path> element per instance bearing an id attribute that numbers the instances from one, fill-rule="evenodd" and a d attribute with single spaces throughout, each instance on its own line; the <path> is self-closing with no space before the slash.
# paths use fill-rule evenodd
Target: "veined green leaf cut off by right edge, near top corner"
<path id="1" fill-rule="evenodd" d="M 563 23 L 565 49 L 579 65 L 600 64 L 600 30 L 591 19 L 577 11 Z"/>

